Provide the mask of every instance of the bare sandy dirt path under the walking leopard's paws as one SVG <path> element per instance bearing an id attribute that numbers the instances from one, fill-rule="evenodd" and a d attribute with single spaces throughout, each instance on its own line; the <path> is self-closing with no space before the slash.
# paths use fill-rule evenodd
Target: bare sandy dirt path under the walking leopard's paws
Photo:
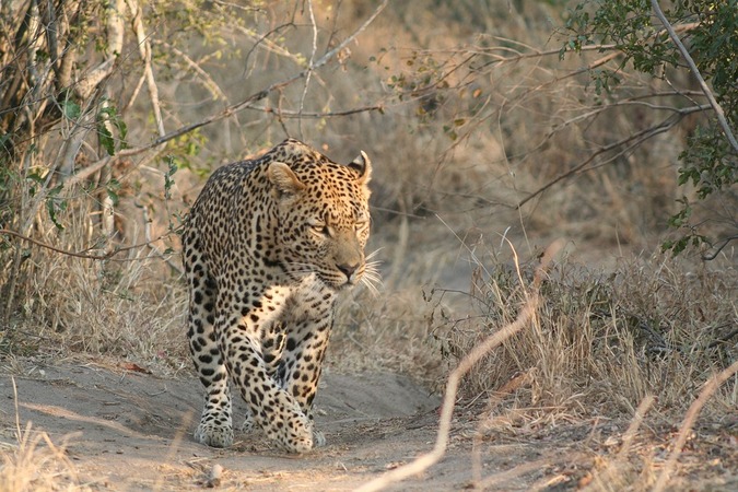
<path id="1" fill-rule="evenodd" d="M 30 421 L 55 444 L 66 441 L 78 479 L 93 489 L 201 489 L 220 465 L 224 488 L 347 490 L 429 449 L 435 436 L 437 397 L 393 374 L 328 372 L 316 405 L 329 445 L 290 456 L 253 434 L 237 433 L 229 449 L 195 443 L 191 430 L 201 405 L 196 379 L 97 364 L 26 363 L 0 377 L 0 441 L 8 446 L 16 444 L 10 372 L 21 426 Z M 464 475 L 453 473 L 438 485 L 455 489 L 460 484 L 455 481 L 468 480 Z"/>

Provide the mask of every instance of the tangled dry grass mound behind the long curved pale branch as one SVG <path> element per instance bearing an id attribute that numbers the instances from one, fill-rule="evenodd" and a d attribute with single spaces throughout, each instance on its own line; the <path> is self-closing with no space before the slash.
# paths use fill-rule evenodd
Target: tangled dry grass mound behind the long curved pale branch
<path id="1" fill-rule="evenodd" d="M 515 318 L 529 274 L 526 265 L 478 266 L 476 314 L 436 325 L 452 362 Z M 464 391 L 528 417 L 632 415 L 647 395 L 659 411 L 680 412 L 736 359 L 736 279 L 729 265 L 666 257 L 623 261 L 611 272 L 563 260 L 542 286 L 532 326 L 490 353 Z M 712 405 L 735 406 L 731 385 Z"/>

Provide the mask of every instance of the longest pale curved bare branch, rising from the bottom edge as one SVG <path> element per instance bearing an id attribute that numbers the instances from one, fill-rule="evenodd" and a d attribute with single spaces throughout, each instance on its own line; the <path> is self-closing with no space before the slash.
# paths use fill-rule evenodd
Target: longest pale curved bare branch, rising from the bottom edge
<path id="1" fill-rule="evenodd" d="M 536 269 L 534 276 L 532 289 L 528 297 L 528 302 L 523 306 L 520 313 L 517 315 L 515 321 L 501 328 L 494 335 L 484 339 L 481 343 L 475 347 L 459 362 L 459 365 L 448 376 L 446 383 L 446 391 L 441 407 L 441 421 L 438 423 L 438 433 L 435 445 L 430 453 L 419 456 L 414 461 L 409 462 L 402 467 L 396 468 L 391 471 L 377 477 L 376 479 L 364 483 L 356 489 L 358 492 L 373 492 L 384 489 L 385 487 L 399 482 L 408 477 L 425 471 L 427 468 L 438 462 L 446 453 L 448 446 L 448 436 L 450 431 L 450 421 L 454 414 L 454 407 L 456 403 L 456 393 L 458 390 L 461 377 L 471 370 L 471 367 L 479 362 L 490 350 L 497 347 L 500 343 L 520 331 L 534 318 L 539 303 L 539 288 L 546 276 L 547 268 L 551 262 L 552 257 L 561 249 L 563 241 L 559 239 L 552 243 L 541 257 L 540 265 Z"/>

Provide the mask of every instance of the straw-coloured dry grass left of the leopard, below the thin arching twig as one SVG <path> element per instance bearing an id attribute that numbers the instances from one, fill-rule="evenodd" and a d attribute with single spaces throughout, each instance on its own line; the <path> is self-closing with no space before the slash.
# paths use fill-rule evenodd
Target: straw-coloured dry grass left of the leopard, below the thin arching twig
<path id="1" fill-rule="evenodd" d="M 5 333 L 10 352 L 121 358 L 163 374 L 189 368 L 186 292 L 161 258 L 139 251 L 102 262 L 40 251 L 34 259 L 44 268 L 24 316 Z"/>

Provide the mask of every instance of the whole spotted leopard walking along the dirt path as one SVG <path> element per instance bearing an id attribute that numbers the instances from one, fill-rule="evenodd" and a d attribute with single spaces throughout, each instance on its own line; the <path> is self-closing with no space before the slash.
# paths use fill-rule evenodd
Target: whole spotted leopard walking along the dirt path
<path id="1" fill-rule="evenodd" d="M 326 444 L 313 402 L 344 291 L 367 261 L 372 163 L 338 164 L 286 139 L 208 178 L 184 221 L 187 337 L 206 399 L 195 440 L 233 445 L 231 388 L 288 453 Z M 370 257 L 371 258 L 371 257 Z"/>

